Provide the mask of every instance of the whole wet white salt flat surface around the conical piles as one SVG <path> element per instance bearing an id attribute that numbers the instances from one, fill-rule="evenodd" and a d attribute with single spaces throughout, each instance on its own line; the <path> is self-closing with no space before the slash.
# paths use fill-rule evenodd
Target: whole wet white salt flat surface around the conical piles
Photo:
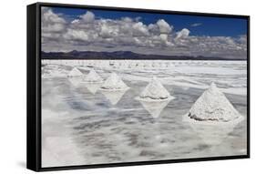
<path id="1" fill-rule="evenodd" d="M 43 60 L 42 64 L 43 167 L 246 154 L 246 62 Z M 129 88 L 101 91 L 100 84 L 84 83 L 82 77 L 67 78 L 73 67 L 84 76 L 93 68 L 104 80 L 115 72 Z M 152 104 L 135 99 L 154 76 L 172 100 Z M 243 120 L 231 127 L 184 121 L 212 81 Z"/>

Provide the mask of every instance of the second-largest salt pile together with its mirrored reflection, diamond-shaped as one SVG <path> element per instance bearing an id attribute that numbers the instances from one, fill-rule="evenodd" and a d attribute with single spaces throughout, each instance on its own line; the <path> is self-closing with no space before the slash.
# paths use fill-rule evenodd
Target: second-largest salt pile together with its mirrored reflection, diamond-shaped
<path id="1" fill-rule="evenodd" d="M 153 77 L 148 86 L 141 92 L 138 100 L 153 118 L 159 118 L 161 111 L 174 99 L 162 86 L 157 77 Z"/>

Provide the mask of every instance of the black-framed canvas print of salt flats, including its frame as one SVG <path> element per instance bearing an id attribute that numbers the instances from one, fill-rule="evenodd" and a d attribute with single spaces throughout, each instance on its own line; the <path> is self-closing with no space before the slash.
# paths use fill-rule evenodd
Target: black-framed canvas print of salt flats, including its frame
<path id="1" fill-rule="evenodd" d="M 27 6 L 27 169 L 249 157 L 249 16 Z"/>

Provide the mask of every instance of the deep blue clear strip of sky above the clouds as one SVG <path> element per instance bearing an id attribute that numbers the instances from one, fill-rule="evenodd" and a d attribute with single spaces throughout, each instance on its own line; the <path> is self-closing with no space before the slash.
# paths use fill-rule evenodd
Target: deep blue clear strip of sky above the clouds
<path id="1" fill-rule="evenodd" d="M 53 11 L 56 14 L 62 14 L 67 20 L 74 20 L 80 15 L 87 13 L 86 9 L 55 7 Z M 124 11 L 110 10 L 91 10 L 96 18 L 120 19 L 128 16 L 131 18 L 140 17 L 141 22 L 145 25 L 156 23 L 159 18 L 164 19 L 170 25 L 174 26 L 174 30 L 179 31 L 182 28 L 188 28 L 192 36 L 241 36 L 247 34 L 247 20 L 241 18 L 230 17 L 209 17 L 199 15 L 165 15 L 165 14 L 149 14 L 135 13 Z M 192 26 L 198 24 L 198 26 Z"/>

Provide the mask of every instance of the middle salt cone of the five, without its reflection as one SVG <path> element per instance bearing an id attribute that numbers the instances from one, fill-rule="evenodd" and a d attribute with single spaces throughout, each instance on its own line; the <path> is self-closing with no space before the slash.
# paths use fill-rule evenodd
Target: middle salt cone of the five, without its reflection
<path id="1" fill-rule="evenodd" d="M 128 86 L 116 73 L 112 73 L 100 88 L 106 90 L 126 90 Z"/>

